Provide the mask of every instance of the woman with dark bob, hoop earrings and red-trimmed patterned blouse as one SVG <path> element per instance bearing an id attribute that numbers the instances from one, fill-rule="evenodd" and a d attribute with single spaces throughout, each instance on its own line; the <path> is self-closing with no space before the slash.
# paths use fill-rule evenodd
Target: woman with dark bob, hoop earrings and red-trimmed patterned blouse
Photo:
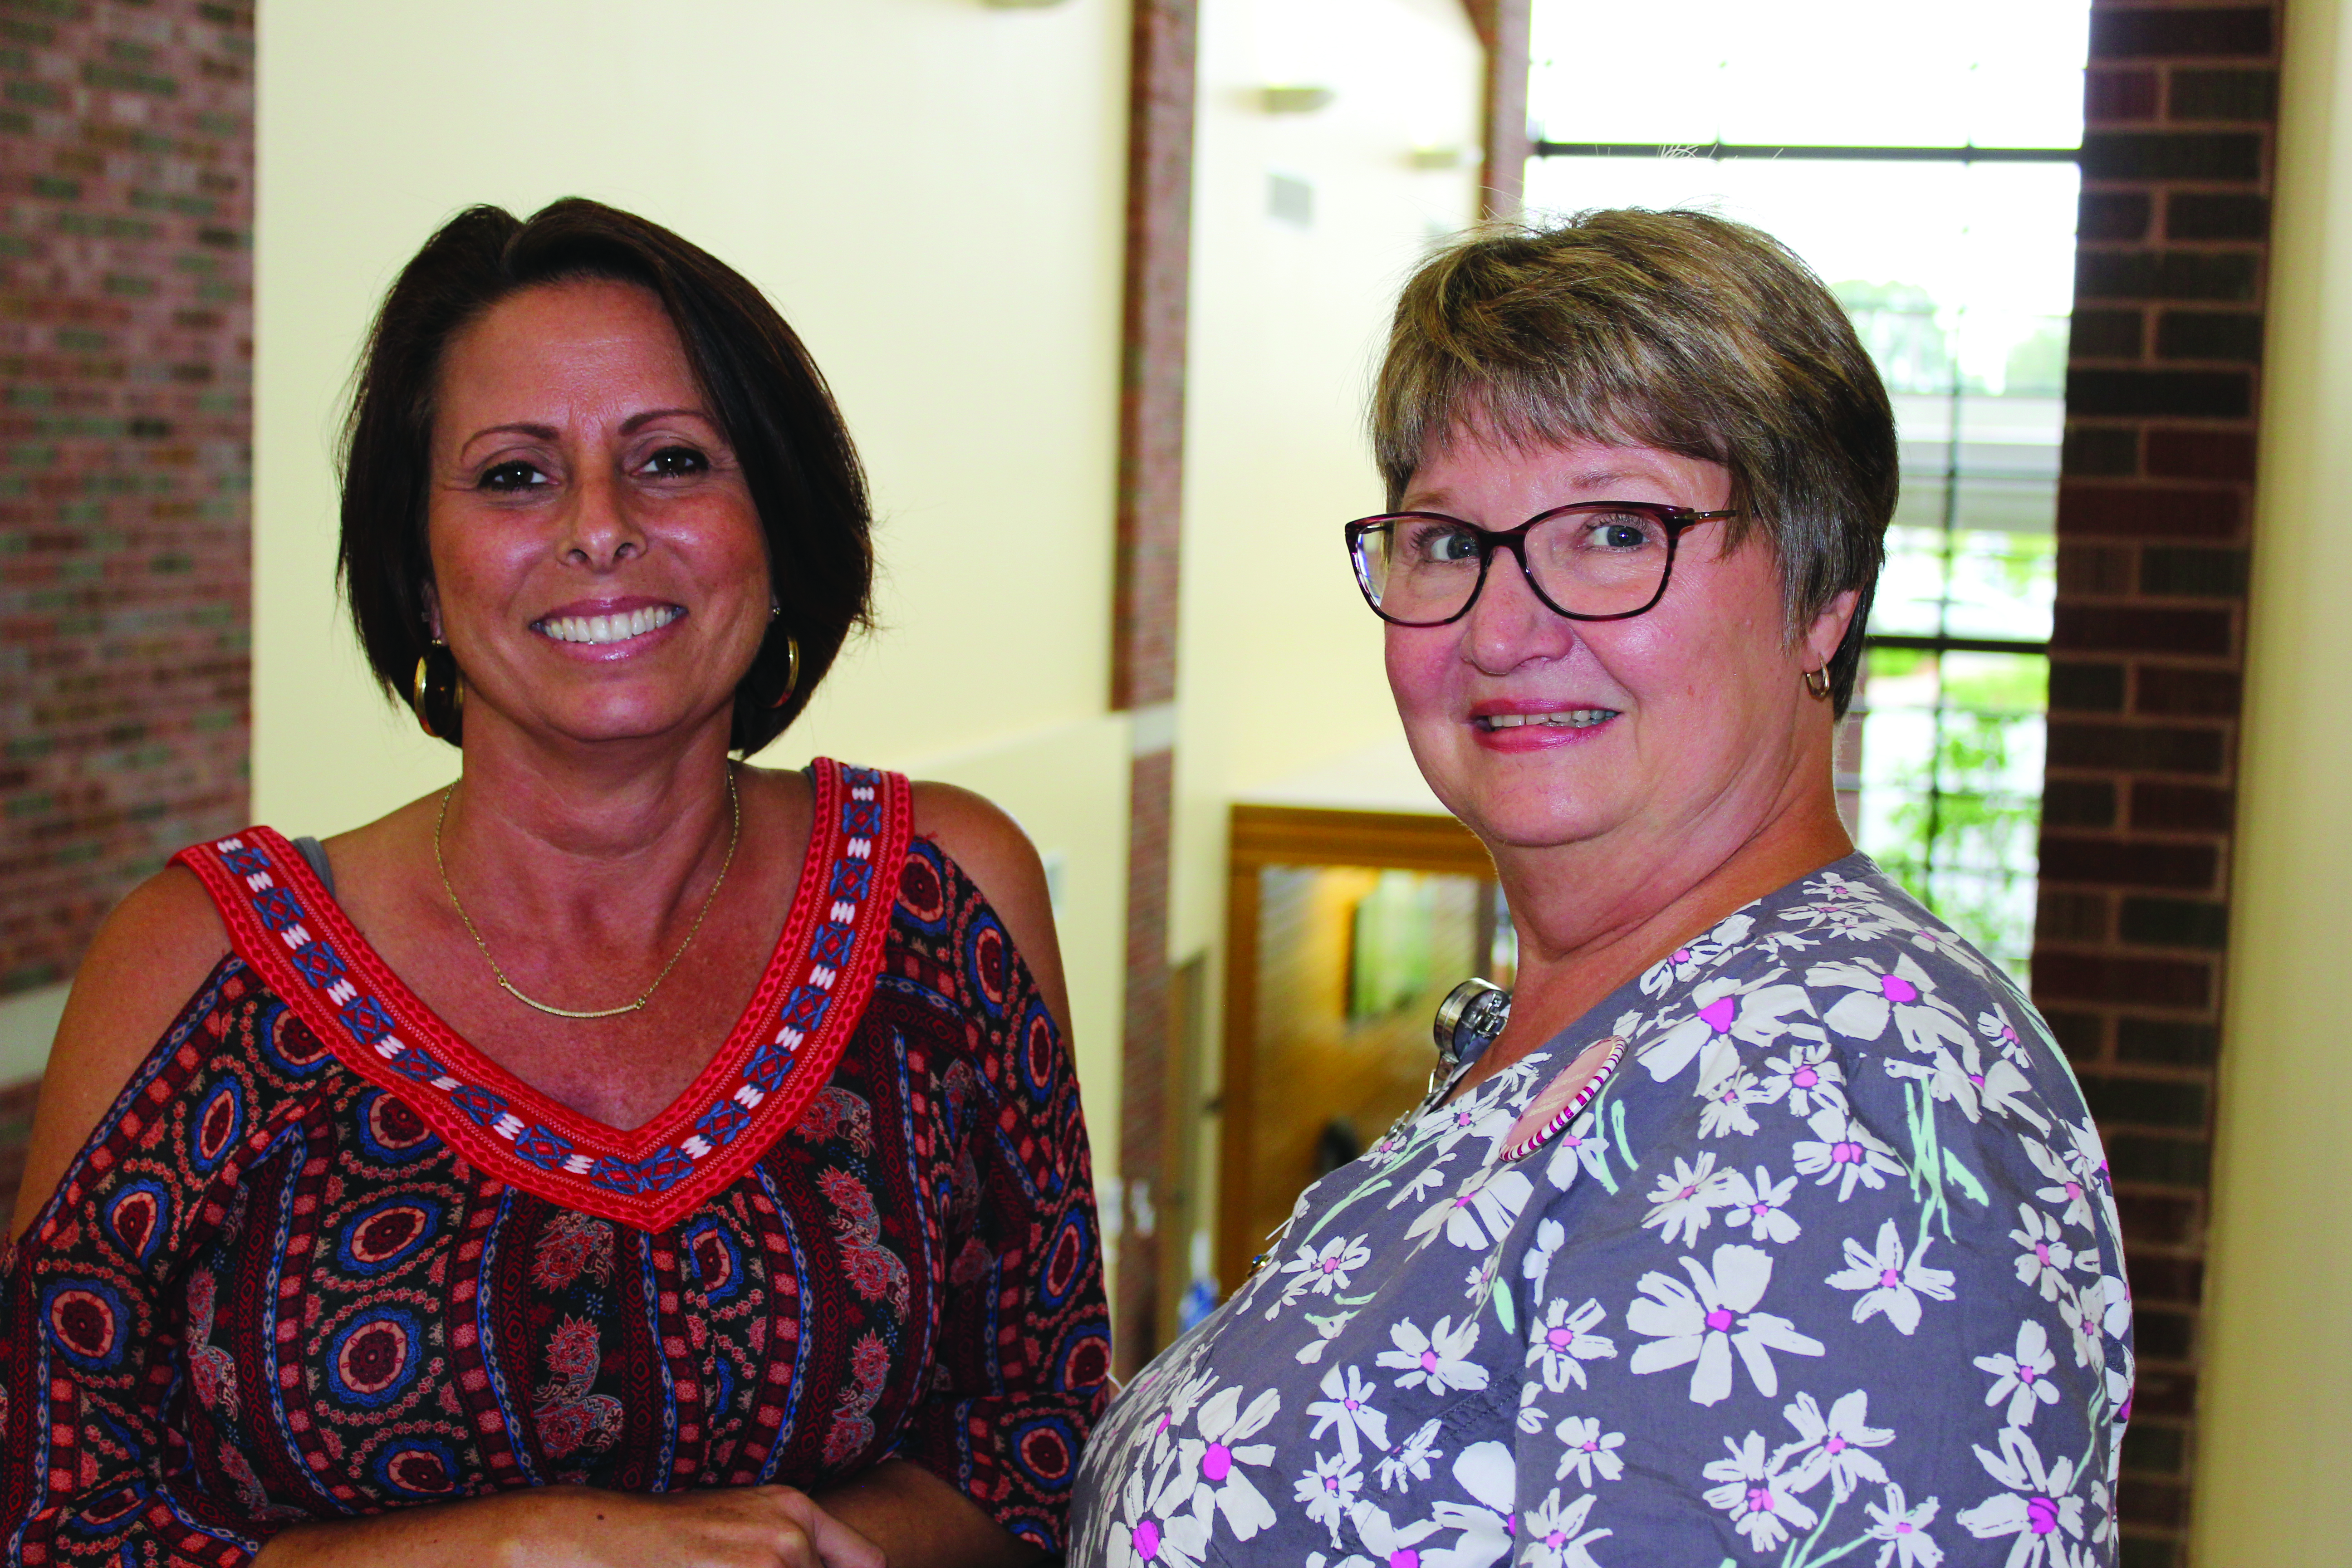
<path id="1" fill-rule="evenodd" d="M 407 266 L 343 583 L 463 773 L 101 931 L 0 1269 L 9 1561 L 1061 1549 L 1108 1335 L 1037 856 L 729 757 L 870 576 L 741 275 L 581 200 Z"/>

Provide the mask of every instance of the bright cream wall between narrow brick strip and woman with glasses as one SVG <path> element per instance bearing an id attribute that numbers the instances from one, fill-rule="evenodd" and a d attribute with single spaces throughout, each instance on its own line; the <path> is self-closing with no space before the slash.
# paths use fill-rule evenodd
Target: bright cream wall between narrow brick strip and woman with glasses
<path id="1" fill-rule="evenodd" d="M 1225 804 L 1395 733 L 1338 524 L 1381 508 L 1364 397 L 1397 289 L 1475 216 L 1479 73 L 1458 0 L 1202 7 L 1178 952 L 1221 936 Z M 1268 113 L 1268 85 L 1334 96 Z M 1308 183 L 1310 223 L 1272 216 L 1275 174 Z"/>

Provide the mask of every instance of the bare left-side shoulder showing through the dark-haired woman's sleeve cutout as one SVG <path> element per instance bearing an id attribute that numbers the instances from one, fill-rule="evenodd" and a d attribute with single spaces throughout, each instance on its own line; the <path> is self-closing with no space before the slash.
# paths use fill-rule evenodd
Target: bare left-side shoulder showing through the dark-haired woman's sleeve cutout
<path id="1" fill-rule="evenodd" d="M 99 926 L 73 976 L 40 1079 L 14 1229 L 21 1234 L 205 976 L 228 929 L 205 884 L 179 865 L 148 877 Z"/>

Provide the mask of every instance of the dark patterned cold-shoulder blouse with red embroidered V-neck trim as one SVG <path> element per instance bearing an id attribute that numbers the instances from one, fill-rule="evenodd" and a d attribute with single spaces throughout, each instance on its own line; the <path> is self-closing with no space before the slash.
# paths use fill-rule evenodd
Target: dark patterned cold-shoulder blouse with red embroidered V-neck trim
<path id="1" fill-rule="evenodd" d="M 442 1025 L 266 827 L 233 952 L 0 1265 L 0 1556 L 898 1455 L 1058 1549 L 1110 1366 L 1070 1056 L 903 778 L 811 766 L 783 938 L 619 1133 Z"/>

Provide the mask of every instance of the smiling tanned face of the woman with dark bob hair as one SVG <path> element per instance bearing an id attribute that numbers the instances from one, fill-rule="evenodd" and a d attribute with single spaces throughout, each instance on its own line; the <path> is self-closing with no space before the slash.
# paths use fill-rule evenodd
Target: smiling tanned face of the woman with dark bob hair
<path id="1" fill-rule="evenodd" d="M 524 289 L 459 334 L 433 421 L 433 630 L 485 722 L 722 733 L 767 635 L 767 536 L 647 289 Z"/>

